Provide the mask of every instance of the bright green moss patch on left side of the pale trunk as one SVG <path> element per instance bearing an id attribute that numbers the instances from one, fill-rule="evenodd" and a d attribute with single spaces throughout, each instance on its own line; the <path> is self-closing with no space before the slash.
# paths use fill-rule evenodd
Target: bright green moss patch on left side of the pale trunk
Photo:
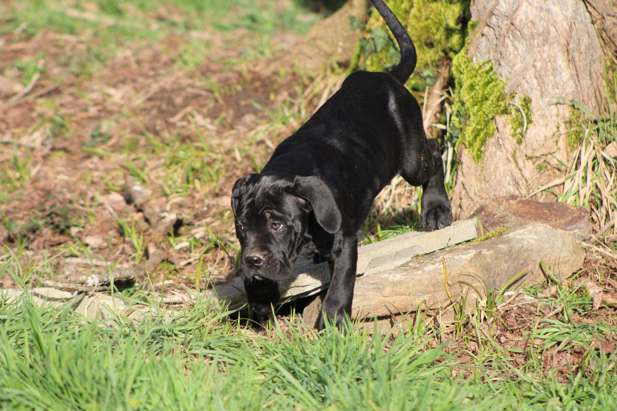
<path id="1" fill-rule="evenodd" d="M 484 142 L 497 127 L 495 117 L 509 114 L 505 83 L 497 77 L 490 61 L 472 64 L 465 46 L 452 60 L 455 94 L 453 126 L 460 128 L 457 149 L 464 143 L 476 164 L 482 158 Z"/>

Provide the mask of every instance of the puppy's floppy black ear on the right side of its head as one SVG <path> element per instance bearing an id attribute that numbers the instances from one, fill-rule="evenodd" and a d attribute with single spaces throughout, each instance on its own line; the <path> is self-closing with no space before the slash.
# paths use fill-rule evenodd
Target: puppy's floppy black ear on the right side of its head
<path id="1" fill-rule="evenodd" d="M 334 201 L 332 191 L 317 176 L 296 177 L 294 194 L 309 202 L 319 225 L 334 234 L 341 228 L 341 211 Z"/>

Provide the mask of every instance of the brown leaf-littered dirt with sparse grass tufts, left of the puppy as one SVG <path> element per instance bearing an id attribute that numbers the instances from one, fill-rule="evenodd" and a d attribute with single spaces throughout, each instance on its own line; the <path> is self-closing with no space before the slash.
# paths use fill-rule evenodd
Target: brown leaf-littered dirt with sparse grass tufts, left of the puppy
<path id="1" fill-rule="evenodd" d="M 234 275 L 231 186 L 295 126 L 255 136 L 268 128 L 268 107 L 308 86 L 294 73 L 273 72 L 268 59 L 223 63 L 250 35 L 204 35 L 209 58 L 189 70 L 174 64 L 171 51 L 186 40 L 177 35 L 146 47 L 128 43 L 89 78 L 62 65 L 67 54 L 88 54 L 87 38 L 52 30 L 2 36 L 0 72 L 45 56 L 36 84 L 23 96 L 5 94 L 0 109 L 7 254 L 17 253 L 23 267 L 59 254 L 46 273 L 56 279 L 106 262 L 138 263 L 155 249 L 169 264 L 155 268 L 154 284 L 177 278 L 195 286 L 198 264 L 201 286 L 210 275 Z M 293 44 L 301 36 L 280 39 Z M 131 198 L 135 185 L 146 191 L 141 201 Z"/>

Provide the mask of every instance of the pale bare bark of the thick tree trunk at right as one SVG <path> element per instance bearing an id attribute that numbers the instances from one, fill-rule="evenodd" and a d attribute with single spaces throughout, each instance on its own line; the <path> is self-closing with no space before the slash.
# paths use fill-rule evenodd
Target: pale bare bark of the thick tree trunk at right
<path id="1" fill-rule="evenodd" d="M 607 50 L 614 46 L 604 46 L 598 32 L 605 33 L 607 43 L 617 39 L 615 9 L 606 17 L 600 15 L 610 4 L 615 1 L 471 2 L 471 17 L 478 21 L 469 48 L 473 63 L 490 60 L 507 83 L 506 94 L 529 96 L 533 122 L 519 145 L 510 136 L 510 117 L 497 117 L 497 131 L 484 143 L 484 156 L 477 165 L 462 149 L 452 196 L 455 217 L 471 215 L 491 197 L 527 196 L 563 175 L 556 158 L 568 159 L 564 122 L 570 108 L 558 98 L 572 99 L 595 115 L 602 114 L 602 101 L 607 101 L 605 60 L 613 57 Z M 540 176 L 539 165 L 548 167 Z"/>

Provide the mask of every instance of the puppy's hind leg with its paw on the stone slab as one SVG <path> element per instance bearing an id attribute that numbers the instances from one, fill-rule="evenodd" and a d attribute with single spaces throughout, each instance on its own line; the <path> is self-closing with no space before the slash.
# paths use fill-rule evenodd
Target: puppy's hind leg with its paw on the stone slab
<path id="1" fill-rule="evenodd" d="M 415 161 L 400 175 L 413 186 L 422 186 L 420 220 L 422 228 L 434 231 L 452 223 L 452 209 L 444 186 L 444 163 L 439 152 L 439 143 L 434 138 L 418 152 Z"/>

